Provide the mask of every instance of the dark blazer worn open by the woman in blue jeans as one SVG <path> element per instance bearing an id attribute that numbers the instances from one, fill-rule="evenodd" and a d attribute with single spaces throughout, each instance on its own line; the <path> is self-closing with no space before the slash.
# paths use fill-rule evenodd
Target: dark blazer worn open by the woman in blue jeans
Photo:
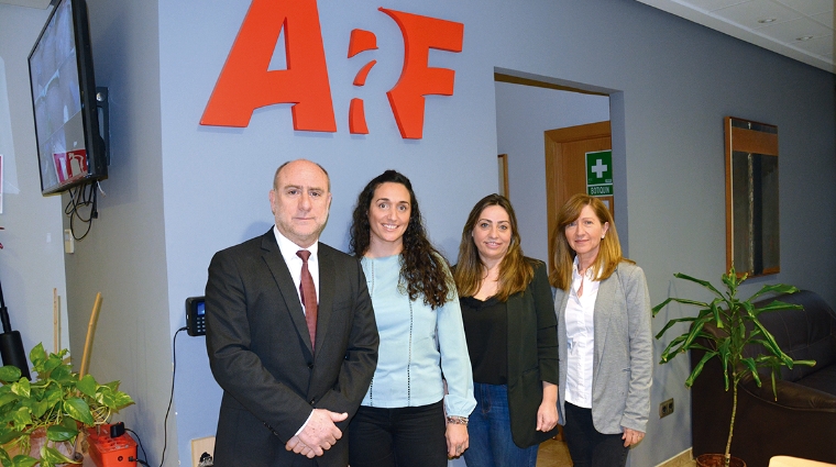
<path id="1" fill-rule="evenodd" d="M 517 446 L 528 447 L 557 434 L 557 427 L 536 430 L 542 381 L 558 383 L 558 321 L 542 262 L 536 262 L 526 290 L 508 297 L 507 310 L 510 433 Z"/>

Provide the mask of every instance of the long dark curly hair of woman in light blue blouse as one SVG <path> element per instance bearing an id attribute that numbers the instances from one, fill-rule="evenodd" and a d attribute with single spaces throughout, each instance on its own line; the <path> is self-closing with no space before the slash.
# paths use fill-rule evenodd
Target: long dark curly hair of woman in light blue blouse
<path id="1" fill-rule="evenodd" d="M 433 310 L 451 300 L 454 290 L 447 260 L 427 240 L 421 210 L 413 191 L 413 184 L 395 170 L 386 170 L 363 188 L 358 197 L 351 222 L 349 251 L 358 258 L 369 251 L 372 226 L 369 209 L 374 192 L 383 184 L 400 184 L 409 192 L 409 224 L 404 232 L 404 249 L 400 252 L 400 283 L 405 283 L 409 300 L 424 297 L 424 303 Z"/>

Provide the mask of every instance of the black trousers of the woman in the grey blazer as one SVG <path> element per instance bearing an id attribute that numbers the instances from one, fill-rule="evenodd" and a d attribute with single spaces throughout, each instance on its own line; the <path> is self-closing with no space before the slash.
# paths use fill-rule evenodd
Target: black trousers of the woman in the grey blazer
<path id="1" fill-rule="evenodd" d="M 592 409 L 564 404 L 563 426 L 569 455 L 574 467 L 624 467 L 630 449 L 624 447 L 622 433 L 603 434 L 592 423 Z"/>

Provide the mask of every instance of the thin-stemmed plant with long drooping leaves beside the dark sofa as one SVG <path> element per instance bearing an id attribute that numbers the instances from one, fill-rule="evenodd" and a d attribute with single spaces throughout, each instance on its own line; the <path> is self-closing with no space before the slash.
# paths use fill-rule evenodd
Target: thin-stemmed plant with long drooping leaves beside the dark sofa
<path id="1" fill-rule="evenodd" d="M 724 465 L 725 467 L 728 467 L 732 459 L 729 449 L 732 447 L 732 435 L 735 430 L 735 415 L 737 413 L 737 387 L 740 380 L 746 376 L 751 375 L 751 378 L 758 387 L 760 387 L 761 381 L 758 369 L 762 367 L 769 368 L 771 370 L 772 392 L 777 399 L 776 374 L 778 373 L 780 376 L 779 371 L 782 366 L 792 368 L 794 365 L 815 365 L 815 360 L 793 360 L 789 355 L 784 354 L 778 346 L 772 334 L 763 327 L 758 319 L 761 313 L 769 311 L 785 309 L 801 310 L 803 307 L 778 300 L 773 300 L 765 307 L 756 307 L 754 303 L 757 298 L 766 293 L 795 293 L 799 289 L 783 283 L 767 285 L 748 299 L 740 300 L 737 298 L 737 289 L 740 283 L 746 280 L 747 275 L 738 277 L 735 273 L 734 266 L 732 266 L 728 274 L 723 275 L 723 283 L 726 287 L 725 293 L 721 292 L 707 280 L 696 279 L 681 273 L 676 273 L 673 276 L 698 283 L 710 290 L 715 298 L 711 302 L 703 302 L 671 297 L 653 307 L 653 316 L 656 316 L 657 313 L 670 302 L 693 305 L 700 309 L 696 315 L 676 318 L 668 321 L 664 327 L 662 327 L 662 330 L 656 335 L 656 338 L 661 338 L 668 330 L 678 323 L 691 324 L 686 332 L 675 336 L 670 344 L 668 344 L 662 352 L 660 364 L 667 364 L 673 357 L 684 354 L 686 351 L 704 351 L 705 355 L 700 363 L 694 366 L 691 375 L 685 380 L 685 386 L 690 388 L 693 386 L 694 380 L 700 376 L 703 367 L 708 360 L 715 357 L 719 359 L 723 365 L 726 391 L 728 391 L 730 387 L 733 394 L 732 420 L 728 425 L 728 441 L 726 443 L 724 457 Z M 703 327 L 708 323 L 712 323 L 721 332 L 716 335 L 706 332 Z M 697 341 L 698 337 L 710 341 L 712 345 L 703 345 Z M 750 344 L 760 344 L 763 351 L 755 356 L 746 356 L 744 349 Z"/>

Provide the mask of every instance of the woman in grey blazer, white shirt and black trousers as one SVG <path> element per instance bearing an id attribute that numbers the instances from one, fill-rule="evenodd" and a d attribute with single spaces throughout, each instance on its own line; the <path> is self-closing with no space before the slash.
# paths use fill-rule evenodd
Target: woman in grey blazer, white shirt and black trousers
<path id="1" fill-rule="evenodd" d="M 606 205 L 575 194 L 558 214 L 556 287 L 560 413 L 575 467 L 624 466 L 645 437 L 652 344 L 645 273 L 622 256 Z"/>

